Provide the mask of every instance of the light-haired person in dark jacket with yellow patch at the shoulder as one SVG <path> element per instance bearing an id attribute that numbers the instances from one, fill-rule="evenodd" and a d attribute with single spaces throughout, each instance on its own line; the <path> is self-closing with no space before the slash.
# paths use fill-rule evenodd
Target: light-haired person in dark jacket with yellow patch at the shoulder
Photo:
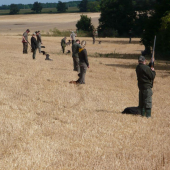
<path id="1" fill-rule="evenodd" d="M 79 60 L 80 60 L 80 74 L 79 79 L 76 81 L 76 84 L 85 84 L 85 75 L 86 70 L 89 68 L 89 62 L 87 57 L 87 50 L 85 49 L 86 41 L 81 42 L 81 48 L 79 48 Z"/>

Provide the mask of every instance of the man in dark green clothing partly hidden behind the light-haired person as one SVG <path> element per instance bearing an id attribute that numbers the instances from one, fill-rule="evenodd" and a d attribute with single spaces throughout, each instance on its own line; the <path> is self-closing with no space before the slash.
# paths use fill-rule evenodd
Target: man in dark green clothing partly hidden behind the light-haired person
<path id="1" fill-rule="evenodd" d="M 79 48 L 81 48 L 80 40 L 76 40 L 76 42 L 72 45 L 72 57 L 73 57 L 73 67 L 74 71 L 80 73 L 80 65 L 79 65 Z"/>

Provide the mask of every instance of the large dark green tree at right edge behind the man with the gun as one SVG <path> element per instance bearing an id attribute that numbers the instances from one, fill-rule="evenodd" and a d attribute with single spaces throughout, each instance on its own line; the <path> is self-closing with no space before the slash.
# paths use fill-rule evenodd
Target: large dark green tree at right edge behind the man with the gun
<path id="1" fill-rule="evenodd" d="M 147 49 L 149 52 L 153 46 L 154 36 L 156 35 L 156 54 L 170 54 L 170 49 L 168 46 L 170 41 L 170 35 L 168 32 L 169 10 L 169 0 L 157 0 L 154 12 L 146 21 L 145 33 L 142 36 L 141 42 L 145 45 L 145 49 Z M 166 22 L 167 26 L 165 27 Z"/>

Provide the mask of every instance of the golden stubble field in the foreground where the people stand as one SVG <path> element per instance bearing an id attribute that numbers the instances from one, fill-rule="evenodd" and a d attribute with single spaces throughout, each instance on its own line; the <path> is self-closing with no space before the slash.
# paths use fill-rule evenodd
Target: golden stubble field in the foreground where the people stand
<path id="1" fill-rule="evenodd" d="M 170 168 L 169 62 L 156 61 L 152 118 L 124 115 L 124 108 L 138 105 L 137 59 L 89 57 L 86 84 L 75 86 L 61 37 L 42 37 L 53 59 L 46 61 L 39 53 L 32 60 L 30 49 L 23 55 L 15 34 L 0 35 L 0 169 Z M 103 38 L 95 45 L 83 39 L 90 56 L 144 49 L 139 39 Z"/>

